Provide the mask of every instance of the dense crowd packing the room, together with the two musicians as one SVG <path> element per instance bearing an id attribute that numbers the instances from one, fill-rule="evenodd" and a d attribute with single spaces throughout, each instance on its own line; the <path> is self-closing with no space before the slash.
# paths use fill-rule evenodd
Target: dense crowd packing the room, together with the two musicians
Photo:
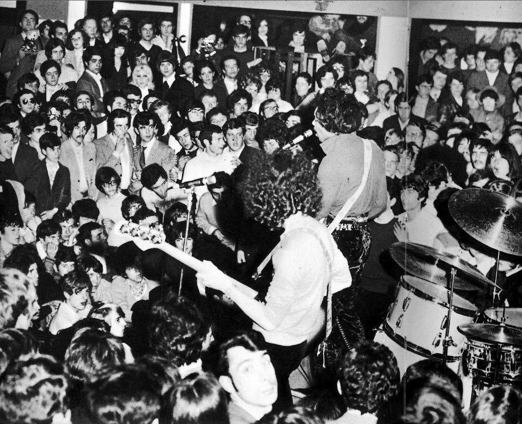
<path id="1" fill-rule="evenodd" d="M 310 45 L 297 22 L 284 48 L 325 64 L 286 86 L 254 59 L 269 27 L 209 26 L 185 56 L 168 18 L 22 14 L 0 56 L 0 422 L 520 422 L 514 386 L 463 412 L 454 371 L 399 371 L 373 341 L 393 243 L 495 273 L 448 199 L 522 198 L 520 45 L 426 39 L 407 93 L 401 69 L 377 80 L 367 34 Z M 128 222 L 197 272 L 122 241 Z M 499 262 L 497 302 L 522 307 L 519 258 Z"/>

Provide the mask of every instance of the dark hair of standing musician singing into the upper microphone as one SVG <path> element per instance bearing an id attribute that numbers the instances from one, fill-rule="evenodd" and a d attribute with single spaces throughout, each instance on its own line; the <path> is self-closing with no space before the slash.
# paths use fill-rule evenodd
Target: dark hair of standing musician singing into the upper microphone
<path id="1" fill-rule="evenodd" d="M 359 128 L 363 117 L 353 96 L 328 88 L 319 98 L 315 118 L 327 131 L 349 134 Z"/>

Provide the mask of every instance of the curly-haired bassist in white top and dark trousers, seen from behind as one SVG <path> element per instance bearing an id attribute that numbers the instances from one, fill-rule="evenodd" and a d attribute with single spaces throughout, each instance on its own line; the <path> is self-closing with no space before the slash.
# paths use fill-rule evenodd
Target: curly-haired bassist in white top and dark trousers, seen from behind
<path id="1" fill-rule="evenodd" d="M 351 277 L 334 239 L 315 219 L 322 192 L 305 156 L 281 151 L 252 163 L 243 190 L 248 215 L 273 230 L 284 229 L 272 256 L 274 276 L 266 303 L 246 296 L 210 262 L 204 261 L 205 269 L 197 278 L 198 284 L 226 294 L 264 335 L 278 380 L 272 410 L 279 411 L 292 404 L 288 377 L 299 366 L 307 340 L 322 322 L 323 297 L 328 294 L 331 299 L 332 292 L 347 288 Z"/>

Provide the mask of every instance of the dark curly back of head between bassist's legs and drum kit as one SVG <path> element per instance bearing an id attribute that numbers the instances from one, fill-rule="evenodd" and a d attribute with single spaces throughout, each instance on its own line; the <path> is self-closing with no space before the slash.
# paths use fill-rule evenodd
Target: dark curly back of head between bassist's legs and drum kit
<path id="1" fill-rule="evenodd" d="M 355 344 L 339 367 L 339 382 L 347 407 L 361 414 L 376 413 L 392 399 L 399 387 L 397 359 L 383 344 Z"/>

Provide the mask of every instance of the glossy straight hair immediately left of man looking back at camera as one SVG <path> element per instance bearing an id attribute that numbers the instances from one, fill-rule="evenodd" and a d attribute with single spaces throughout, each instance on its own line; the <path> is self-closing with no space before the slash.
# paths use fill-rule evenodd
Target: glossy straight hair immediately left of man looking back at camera
<path id="1" fill-rule="evenodd" d="M 227 396 L 210 372 L 192 373 L 167 397 L 160 424 L 228 423 Z"/>

